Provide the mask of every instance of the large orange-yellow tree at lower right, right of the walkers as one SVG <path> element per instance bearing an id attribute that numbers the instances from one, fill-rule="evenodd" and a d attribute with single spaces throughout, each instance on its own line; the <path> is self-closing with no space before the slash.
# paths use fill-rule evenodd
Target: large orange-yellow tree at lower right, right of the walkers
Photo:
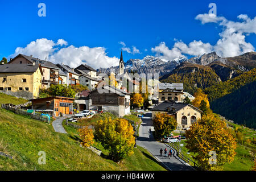
<path id="1" fill-rule="evenodd" d="M 193 123 L 186 131 L 186 138 L 186 147 L 189 152 L 196 154 L 194 159 L 204 170 L 220 170 L 225 163 L 231 163 L 236 155 L 236 138 L 226 127 L 225 121 L 213 115 L 204 115 Z"/>

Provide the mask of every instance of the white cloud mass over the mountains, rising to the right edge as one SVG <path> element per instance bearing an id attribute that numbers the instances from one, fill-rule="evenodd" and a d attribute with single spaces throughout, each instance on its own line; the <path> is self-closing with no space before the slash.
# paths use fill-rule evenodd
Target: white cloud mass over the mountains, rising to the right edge
<path id="1" fill-rule="evenodd" d="M 193 40 L 193 42 L 185 44 L 181 40 L 174 39 L 175 44 L 172 49 L 169 49 L 166 43 L 162 42 L 159 46 L 151 48 L 151 51 L 156 52 L 156 56 L 166 60 L 172 60 L 180 56 L 184 57 L 183 54 L 197 56 L 216 51 L 221 57 L 233 57 L 254 51 L 253 45 L 247 43 L 245 38 L 250 34 L 256 34 L 256 17 L 250 19 L 249 16 L 242 14 L 237 18 L 241 21 L 233 22 L 223 16 L 199 14 L 195 19 L 200 20 L 202 24 L 217 23 L 223 27 L 219 34 L 220 39 L 215 45 L 203 43 L 201 40 Z"/>

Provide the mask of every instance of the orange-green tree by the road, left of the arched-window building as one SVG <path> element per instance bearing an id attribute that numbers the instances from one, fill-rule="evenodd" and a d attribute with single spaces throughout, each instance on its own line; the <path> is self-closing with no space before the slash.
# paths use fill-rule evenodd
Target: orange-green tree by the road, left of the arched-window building
<path id="1" fill-rule="evenodd" d="M 153 125 L 155 129 L 155 136 L 162 138 L 169 135 L 177 127 L 176 119 L 166 113 L 158 113 L 153 119 Z"/>

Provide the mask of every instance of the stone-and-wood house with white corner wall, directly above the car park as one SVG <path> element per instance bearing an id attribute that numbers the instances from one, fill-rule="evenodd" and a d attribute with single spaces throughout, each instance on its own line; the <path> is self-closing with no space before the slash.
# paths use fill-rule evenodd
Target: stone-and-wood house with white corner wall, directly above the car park
<path id="1" fill-rule="evenodd" d="M 100 93 L 98 89 L 104 89 L 105 92 Z M 92 90 L 89 99 L 89 109 L 108 111 L 118 117 L 130 113 L 130 94 L 113 86 L 105 85 Z"/>

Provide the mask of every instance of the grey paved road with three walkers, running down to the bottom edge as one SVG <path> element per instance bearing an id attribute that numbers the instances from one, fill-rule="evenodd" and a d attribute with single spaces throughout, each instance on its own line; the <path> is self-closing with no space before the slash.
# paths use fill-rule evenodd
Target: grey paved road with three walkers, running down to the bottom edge
<path id="1" fill-rule="evenodd" d="M 191 166 L 185 163 L 183 160 L 177 157 L 176 151 L 174 148 L 171 148 L 166 143 L 156 142 L 152 133 L 149 132 L 150 127 L 152 126 L 151 113 L 144 114 L 142 118 L 141 127 L 139 127 L 139 137 L 137 138 L 137 144 L 141 147 L 145 147 L 156 159 L 164 164 L 168 169 L 172 171 L 191 171 L 194 170 Z M 174 154 L 171 159 L 168 157 L 160 156 L 160 148 L 164 150 L 167 148 L 167 151 L 172 149 L 172 154 Z M 175 151 L 175 153 L 174 153 Z"/>

